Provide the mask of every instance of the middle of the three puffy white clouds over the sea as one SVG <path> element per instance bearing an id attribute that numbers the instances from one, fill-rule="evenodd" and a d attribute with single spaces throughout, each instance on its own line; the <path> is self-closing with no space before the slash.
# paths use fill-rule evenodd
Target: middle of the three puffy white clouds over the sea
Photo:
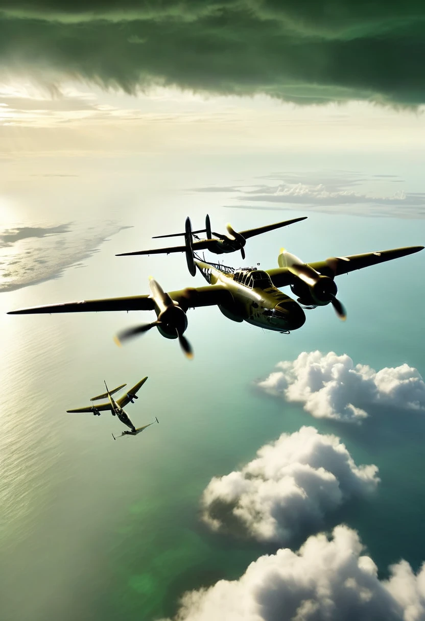
<path id="1" fill-rule="evenodd" d="M 334 435 L 313 427 L 282 433 L 240 471 L 214 477 L 201 505 L 214 530 L 290 543 L 323 527 L 324 517 L 376 489 L 374 465 L 356 466 Z"/>

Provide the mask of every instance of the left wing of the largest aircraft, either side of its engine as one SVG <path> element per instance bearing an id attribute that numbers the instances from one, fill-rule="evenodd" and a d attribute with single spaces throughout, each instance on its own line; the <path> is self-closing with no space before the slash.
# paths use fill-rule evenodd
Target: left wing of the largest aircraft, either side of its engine
<path id="1" fill-rule="evenodd" d="M 229 299 L 231 294 L 221 285 L 204 287 L 188 287 L 179 291 L 169 291 L 171 299 L 180 304 L 183 311 L 198 306 L 214 306 Z M 83 300 L 81 302 L 65 302 L 51 306 L 32 306 L 25 309 L 9 311 L 8 315 L 51 314 L 62 312 L 104 312 L 104 311 L 153 311 L 155 304 L 152 297 L 108 297 L 100 300 Z"/>

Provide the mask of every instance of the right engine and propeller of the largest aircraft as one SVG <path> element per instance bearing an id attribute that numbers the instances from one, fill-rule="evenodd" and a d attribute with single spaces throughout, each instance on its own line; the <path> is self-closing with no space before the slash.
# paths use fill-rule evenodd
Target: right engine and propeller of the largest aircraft
<path id="1" fill-rule="evenodd" d="M 303 263 L 298 256 L 291 254 L 285 250 L 285 248 L 281 248 L 278 263 L 281 268 L 288 268 L 291 274 L 294 274 L 294 276 L 297 276 L 297 278 L 311 287 L 313 296 L 316 297 L 318 301 L 331 302 L 339 319 L 342 321 L 347 319 L 347 311 L 345 311 L 342 302 L 336 297 L 338 289 L 333 278 L 319 274 L 318 271 L 307 265 L 307 263 Z M 334 262 L 332 263 L 332 259 L 327 260 L 327 264 L 332 271 L 335 271 L 335 265 Z"/>

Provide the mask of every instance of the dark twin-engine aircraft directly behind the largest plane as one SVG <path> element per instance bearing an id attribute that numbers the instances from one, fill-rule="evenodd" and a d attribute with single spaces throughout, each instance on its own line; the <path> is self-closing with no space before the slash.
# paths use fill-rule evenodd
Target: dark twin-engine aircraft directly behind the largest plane
<path id="1" fill-rule="evenodd" d="M 200 229 L 197 231 L 192 230 L 192 224 L 190 221 L 190 217 L 186 218 L 186 230 L 184 233 L 171 233 L 171 235 L 157 235 L 157 237 L 152 237 L 152 239 L 162 239 L 165 237 L 185 237 L 185 245 L 184 246 L 170 246 L 168 248 L 155 248 L 154 250 L 139 250 L 139 252 L 122 252 L 116 256 L 133 256 L 133 255 L 160 255 L 162 253 L 170 254 L 170 252 L 185 252 L 186 253 L 186 262 L 188 264 L 188 268 L 192 276 L 196 274 L 196 265 L 193 259 L 193 253 L 199 252 L 199 250 L 209 250 L 209 252 L 213 252 L 216 255 L 222 255 L 228 252 L 235 252 L 236 250 L 240 250 L 242 255 L 242 259 L 245 259 L 245 250 L 244 246 L 247 243 L 247 239 L 250 237 L 254 237 L 255 235 L 261 235 L 262 233 L 267 233 L 268 231 L 272 231 L 275 229 L 281 229 L 281 227 L 287 227 L 290 224 L 294 224 L 294 222 L 301 222 L 301 220 L 306 220 L 307 216 L 304 215 L 301 218 L 293 218 L 292 220 L 284 220 L 284 222 L 276 222 L 276 224 L 268 224 L 265 227 L 258 227 L 257 229 L 247 229 L 244 231 L 235 231 L 232 229 L 230 224 L 227 224 L 227 233 L 214 233 L 211 231 L 211 222 L 209 220 L 209 215 L 206 215 L 205 219 L 205 229 Z M 204 233 L 206 232 L 206 239 L 199 239 L 196 233 Z M 215 235 L 217 239 L 214 239 L 212 235 Z M 198 242 L 194 242 L 193 238 L 198 239 Z"/>

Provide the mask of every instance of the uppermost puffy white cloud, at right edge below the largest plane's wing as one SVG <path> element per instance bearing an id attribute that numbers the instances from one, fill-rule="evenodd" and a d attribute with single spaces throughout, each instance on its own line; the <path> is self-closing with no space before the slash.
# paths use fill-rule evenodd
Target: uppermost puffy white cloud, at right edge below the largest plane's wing
<path id="1" fill-rule="evenodd" d="M 304 404 L 315 418 L 360 422 L 373 405 L 425 412 L 425 383 L 406 364 L 375 371 L 355 365 L 350 356 L 334 351 L 311 351 L 276 365 L 276 371 L 258 382 L 269 394 Z"/>

